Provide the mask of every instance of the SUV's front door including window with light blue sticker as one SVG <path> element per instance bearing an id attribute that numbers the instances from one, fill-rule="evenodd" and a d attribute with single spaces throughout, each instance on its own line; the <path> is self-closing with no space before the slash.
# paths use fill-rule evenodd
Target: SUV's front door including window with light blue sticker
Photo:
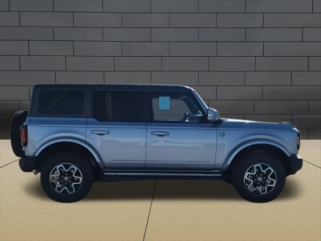
<path id="1" fill-rule="evenodd" d="M 190 93 L 151 93 L 152 122 L 146 123 L 146 168 L 213 169 L 216 127 Z"/>

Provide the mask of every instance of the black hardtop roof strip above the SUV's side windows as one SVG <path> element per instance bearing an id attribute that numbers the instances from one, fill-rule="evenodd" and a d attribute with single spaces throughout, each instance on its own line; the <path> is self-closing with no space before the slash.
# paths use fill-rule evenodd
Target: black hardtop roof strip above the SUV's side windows
<path id="1" fill-rule="evenodd" d="M 37 84 L 34 89 L 60 89 L 60 88 L 92 88 L 93 90 L 110 91 L 146 91 L 146 92 L 190 92 L 191 88 L 184 85 L 171 84 Z"/>

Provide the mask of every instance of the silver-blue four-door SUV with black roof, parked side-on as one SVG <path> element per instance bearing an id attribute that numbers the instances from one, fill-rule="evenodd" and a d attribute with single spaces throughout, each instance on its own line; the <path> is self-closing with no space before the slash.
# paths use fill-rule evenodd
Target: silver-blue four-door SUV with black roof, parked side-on
<path id="1" fill-rule="evenodd" d="M 293 125 L 220 118 L 179 85 L 36 85 L 11 142 L 21 169 L 40 172 L 59 202 L 82 199 L 97 180 L 133 179 L 225 180 L 267 202 L 302 167 Z"/>

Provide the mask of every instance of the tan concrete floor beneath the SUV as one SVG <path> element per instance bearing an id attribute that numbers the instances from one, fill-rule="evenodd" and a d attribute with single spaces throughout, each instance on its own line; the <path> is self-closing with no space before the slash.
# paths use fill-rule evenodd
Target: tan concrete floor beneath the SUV
<path id="1" fill-rule="evenodd" d="M 302 140 L 305 162 L 283 193 L 250 203 L 221 181 L 95 183 L 86 198 L 46 197 L 0 141 L 1 240 L 320 240 L 321 140 Z"/>

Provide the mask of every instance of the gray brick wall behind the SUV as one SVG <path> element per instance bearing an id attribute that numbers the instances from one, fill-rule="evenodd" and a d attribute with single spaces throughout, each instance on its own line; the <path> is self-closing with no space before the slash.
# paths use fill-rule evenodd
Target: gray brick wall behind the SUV
<path id="1" fill-rule="evenodd" d="M 0 136 L 40 83 L 184 84 L 321 138 L 321 0 L 0 0 Z"/>

